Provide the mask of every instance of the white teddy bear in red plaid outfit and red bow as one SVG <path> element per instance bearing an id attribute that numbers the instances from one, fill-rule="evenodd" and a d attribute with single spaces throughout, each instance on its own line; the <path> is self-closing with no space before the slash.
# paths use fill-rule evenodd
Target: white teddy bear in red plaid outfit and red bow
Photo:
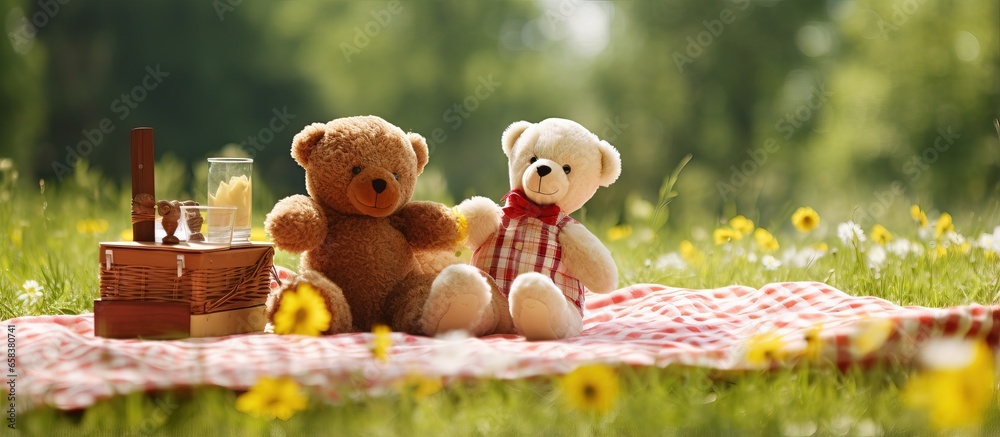
<path id="1" fill-rule="evenodd" d="M 621 174 L 618 151 L 580 124 L 519 121 L 503 133 L 511 191 L 506 205 L 473 197 L 458 206 L 469 225 L 472 264 L 508 297 L 516 331 L 553 340 L 583 329 L 584 293 L 618 283 L 611 253 L 569 217 Z"/>

